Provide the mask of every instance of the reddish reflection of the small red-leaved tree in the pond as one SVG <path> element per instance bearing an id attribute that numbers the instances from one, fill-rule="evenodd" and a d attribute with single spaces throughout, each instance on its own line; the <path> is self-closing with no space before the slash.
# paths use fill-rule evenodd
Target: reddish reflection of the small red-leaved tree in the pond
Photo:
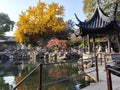
<path id="1" fill-rule="evenodd" d="M 51 79 L 61 79 L 61 78 L 66 78 L 70 75 L 77 74 L 78 72 L 78 67 L 75 63 L 69 64 L 69 65 L 64 65 L 64 66 L 57 66 L 57 67 L 52 67 L 48 70 L 48 76 Z"/>

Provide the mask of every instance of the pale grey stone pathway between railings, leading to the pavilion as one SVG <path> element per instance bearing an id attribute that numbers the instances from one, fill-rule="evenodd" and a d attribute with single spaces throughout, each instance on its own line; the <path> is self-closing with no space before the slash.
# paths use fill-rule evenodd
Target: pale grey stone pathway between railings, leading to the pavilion
<path id="1" fill-rule="evenodd" d="M 95 68 L 92 68 L 95 69 Z M 92 69 L 87 69 L 85 72 L 88 72 Z M 91 72 L 90 75 L 93 77 L 96 76 L 96 72 Z M 95 77 L 96 78 L 96 77 Z M 112 88 L 113 90 L 120 90 L 120 77 L 111 74 L 112 79 Z M 91 83 L 89 86 L 81 89 L 81 90 L 108 90 L 107 88 L 107 78 L 104 65 L 99 66 L 99 82 Z"/>

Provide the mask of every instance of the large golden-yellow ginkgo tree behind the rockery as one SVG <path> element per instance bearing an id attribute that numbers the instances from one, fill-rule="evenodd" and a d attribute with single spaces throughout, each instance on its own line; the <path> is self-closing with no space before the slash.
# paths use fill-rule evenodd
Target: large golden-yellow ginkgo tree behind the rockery
<path id="1" fill-rule="evenodd" d="M 39 1 L 37 6 L 21 12 L 14 37 L 17 42 L 37 42 L 48 38 L 56 32 L 63 31 L 66 24 L 63 20 L 64 7 L 57 3 L 45 4 Z"/>

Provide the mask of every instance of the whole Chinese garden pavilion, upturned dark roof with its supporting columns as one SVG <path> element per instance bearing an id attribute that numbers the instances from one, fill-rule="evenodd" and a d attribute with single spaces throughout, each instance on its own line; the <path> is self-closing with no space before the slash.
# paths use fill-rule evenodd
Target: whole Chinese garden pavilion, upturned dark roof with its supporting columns
<path id="1" fill-rule="evenodd" d="M 116 12 L 117 12 L 118 3 L 116 4 L 113 15 L 109 16 L 104 13 L 101 9 L 100 5 L 95 9 L 95 12 L 91 19 L 88 21 L 82 22 L 76 16 L 79 24 L 77 26 L 80 30 L 80 35 L 84 38 L 84 36 L 88 36 L 88 52 L 90 52 L 90 38 L 93 38 L 93 52 L 95 52 L 95 38 L 108 37 L 108 52 L 111 53 L 110 49 L 110 36 L 116 35 L 118 37 L 118 47 L 120 51 L 120 21 L 116 20 Z"/>

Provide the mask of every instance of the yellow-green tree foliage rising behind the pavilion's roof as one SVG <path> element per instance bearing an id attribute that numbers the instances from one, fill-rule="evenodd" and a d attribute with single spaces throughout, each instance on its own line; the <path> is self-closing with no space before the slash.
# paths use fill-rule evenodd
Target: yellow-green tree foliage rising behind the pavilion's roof
<path id="1" fill-rule="evenodd" d="M 97 4 L 99 4 L 102 8 L 102 10 L 110 15 L 113 14 L 114 8 L 116 6 L 116 3 L 118 3 L 118 11 L 117 11 L 117 18 L 120 18 L 120 2 L 119 0 L 84 0 L 83 1 L 83 11 L 87 16 L 87 19 L 90 19 L 93 15 L 95 8 L 97 7 Z"/>

